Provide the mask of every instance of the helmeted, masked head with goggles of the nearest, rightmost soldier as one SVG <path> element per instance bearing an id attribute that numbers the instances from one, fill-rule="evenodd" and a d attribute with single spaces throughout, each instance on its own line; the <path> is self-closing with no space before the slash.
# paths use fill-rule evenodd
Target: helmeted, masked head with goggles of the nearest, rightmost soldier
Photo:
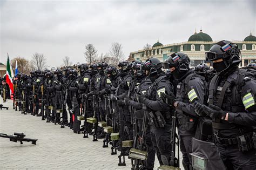
<path id="1" fill-rule="evenodd" d="M 238 45 L 228 40 L 222 40 L 214 44 L 210 51 L 205 52 L 205 57 L 207 61 L 213 61 L 213 68 L 218 75 L 228 73 L 241 62 Z"/>

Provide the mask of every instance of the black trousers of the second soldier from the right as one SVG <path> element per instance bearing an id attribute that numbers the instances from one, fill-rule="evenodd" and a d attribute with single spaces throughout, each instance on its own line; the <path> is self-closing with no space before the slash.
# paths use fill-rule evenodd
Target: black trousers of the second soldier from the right
<path id="1" fill-rule="evenodd" d="M 191 155 L 192 153 L 192 138 L 194 135 L 179 135 L 179 146 L 183 157 L 184 169 L 189 169 L 191 166 Z M 184 165 L 185 164 L 185 165 Z"/>

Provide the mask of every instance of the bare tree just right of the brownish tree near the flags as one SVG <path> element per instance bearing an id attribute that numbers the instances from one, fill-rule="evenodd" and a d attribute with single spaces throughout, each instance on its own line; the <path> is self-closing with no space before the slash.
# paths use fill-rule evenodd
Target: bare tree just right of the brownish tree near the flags
<path id="1" fill-rule="evenodd" d="M 43 53 L 34 53 L 31 60 L 33 70 L 43 70 L 46 67 L 46 58 Z"/>

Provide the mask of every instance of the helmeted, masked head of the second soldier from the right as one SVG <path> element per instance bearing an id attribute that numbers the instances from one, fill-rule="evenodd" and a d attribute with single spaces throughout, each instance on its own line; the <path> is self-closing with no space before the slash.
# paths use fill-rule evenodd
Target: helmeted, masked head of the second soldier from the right
<path id="1" fill-rule="evenodd" d="M 171 69 L 174 78 L 180 79 L 190 70 L 190 58 L 183 52 L 174 52 L 163 63 L 164 69 Z M 174 68 L 174 69 L 173 69 Z"/>

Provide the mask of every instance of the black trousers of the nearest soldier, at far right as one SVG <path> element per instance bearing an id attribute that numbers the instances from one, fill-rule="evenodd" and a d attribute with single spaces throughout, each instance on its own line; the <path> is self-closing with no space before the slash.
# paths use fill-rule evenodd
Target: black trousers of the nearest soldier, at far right
<path id="1" fill-rule="evenodd" d="M 237 145 L 216 144 L 227 169 L 256 169 L 256 151 L 241 152 Z"/>

